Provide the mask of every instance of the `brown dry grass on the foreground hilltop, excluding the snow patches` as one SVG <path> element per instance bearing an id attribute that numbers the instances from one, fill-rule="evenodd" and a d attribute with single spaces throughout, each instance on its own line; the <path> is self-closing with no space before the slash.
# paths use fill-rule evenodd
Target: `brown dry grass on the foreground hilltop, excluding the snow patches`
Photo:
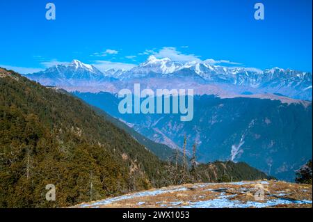
<path id="1" fill-rule="evenodd" d="M 263 182 L 264 200 L 255 200 L 255 185 L 259 181 L 247 182 L 243 184 L 184 184 L 177 187 L 163 188 L 168 192 L 159 193 L 150 196 L 140 196 L 141 192 L 129 193 L 127 196 L 131 198 L 110 201 L 107 204 L 86 203 L 86 205 L 77 205 L 75 207 L 188 207 L 191 203 L 198 203 L 199 201 L 216 200 L 223 196 L 228 200 L 238 200 L 240 203 L 247 203 L 248 201 L 257 203 L 266 203 L 270 200 L 311 200 L 312 201 L 312 185 L 309 184 L 293 184 L 281 181 Z M 176 189 L 184 189 L 176 191 Z M 152 189 L 150 191 L 159 191 L 160 189 Z M 162 189 L 161 189 L 162 190 Z M 125 196 L 123 196 L 125 197 Z M 91 205 L 93 204 L 93 205 Z M 312 204 L 280 204 L 273 207 L 312 207 Z"/>

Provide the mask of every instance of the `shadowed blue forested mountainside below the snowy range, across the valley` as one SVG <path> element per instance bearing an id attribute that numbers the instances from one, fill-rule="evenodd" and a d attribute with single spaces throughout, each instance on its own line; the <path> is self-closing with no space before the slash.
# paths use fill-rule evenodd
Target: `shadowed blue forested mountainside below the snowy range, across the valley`
<path id="1" fill-rule="evenodd" d="M 197 141 L 202 162 L 245 161 L 269 175 L 293 181 L 294 171 L 312 158 L 311 102 L 195 96 L 193 120 L 181 122 L 175 114 L 122 115 L 120 99 L 110 93 L 74 95 L 125 120 L 157 143 L 181 147 L 186 134 L 188 152 Z"/>

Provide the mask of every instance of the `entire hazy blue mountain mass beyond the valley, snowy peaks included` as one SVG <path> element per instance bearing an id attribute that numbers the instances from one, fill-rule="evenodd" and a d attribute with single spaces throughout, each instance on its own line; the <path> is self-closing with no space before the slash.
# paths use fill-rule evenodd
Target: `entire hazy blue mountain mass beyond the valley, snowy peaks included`
<path id="1" fill-rule="evenodd" d="M 198 143 L 198 160 L 246 161 L 284 180 L 312 158 L 312 73 L 178 63 L 150 56 L 131 70 L 100 72 L 72 61 L 26 77 L 72 91 L 152 141 L 182 147 Z M 191 122 L 175 115 L 121 115 L 121 88 L 193 88 Z M 106 92 L 106 93 L 104 93 Z M 261 100 L 262 99 L 262 100 Z M 188 146 L 191 152 L 191 144 Z"/>

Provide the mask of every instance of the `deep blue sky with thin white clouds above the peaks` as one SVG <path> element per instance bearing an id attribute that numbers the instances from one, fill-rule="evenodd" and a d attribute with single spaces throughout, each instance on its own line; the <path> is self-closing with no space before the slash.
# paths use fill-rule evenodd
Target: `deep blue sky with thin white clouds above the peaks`
<path id="1" fill-rule="evenodd" d="M 45 18 L 48 2 L 56 20 Z M 131 68 L 151 54 L 312 72 L 312 0 L 1 0 L 0 27 L 0 66 L 24 73 L 74 58 Z"/>

